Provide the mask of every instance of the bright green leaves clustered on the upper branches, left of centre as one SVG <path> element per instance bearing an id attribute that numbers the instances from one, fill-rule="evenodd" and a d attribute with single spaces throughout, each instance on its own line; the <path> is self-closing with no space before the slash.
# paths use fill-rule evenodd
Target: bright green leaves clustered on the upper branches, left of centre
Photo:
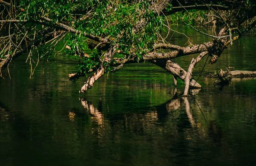
<path id="1" fill-rule="evenodd" d="M 23 13 L 21 20 L 40 20 L 41 17 L 47 17 L 52 20 L 53 25 L 64 23 L 87 34 L 107 38 L 112 45 L 118 45 L 122 50 L 123 54 L 118 55 L 121 57 L 136 50 L 136 56 L 140 59 L 141 54 L 149 51 L 157 40 L 157 34 L 164 28 L 165 18 L 149 8 L 150 1 L 129 3 L 98 0 L 22 0 L 20 3 L 27 6 L 27 12 Z M 145 25 L 134 26 L 144 19 Z M 86 40 L 81 34 L 71 34 L 67 45 L 72 49 L 67 50 L 67 53 L 73 56 L 77 49 L 84 52 L 87 49 Z M 87 73 L 99 65 L 100 55 L 94 51 L 90 57 L 82 57 L 79 72 Z"/>

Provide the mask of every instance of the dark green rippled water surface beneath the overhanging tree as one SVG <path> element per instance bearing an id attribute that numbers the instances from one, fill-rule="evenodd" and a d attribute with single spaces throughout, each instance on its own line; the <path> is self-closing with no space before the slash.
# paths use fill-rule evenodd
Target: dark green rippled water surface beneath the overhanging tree
<path id="1" fill-rule="evenodd" d="M 195 43 L 209 40 L 189 32 Z M 186 43 L 182 35 L 172 43 Z M 203 75 L 256 71 L 256 38 L 234 42 Z M 175 59 L 187 69 L 192 57 Z M 213 79 L 189 98 L 173 98 L 172 75 L 151 63 L 109 73 L 83 96 L 68 57 L 41 62 L 31 79 L 26 56 L 0 79 L 1 166 L 249 166 L 256 163 L 256 79 Z M 199 75 L 206 58 L 193 72 Z M 4 71 L 7 74 L 7 70 Z M 178 94 L 184 83 L 178 81 Z M 181 96 L 181 95 L 180 95 Z"/>

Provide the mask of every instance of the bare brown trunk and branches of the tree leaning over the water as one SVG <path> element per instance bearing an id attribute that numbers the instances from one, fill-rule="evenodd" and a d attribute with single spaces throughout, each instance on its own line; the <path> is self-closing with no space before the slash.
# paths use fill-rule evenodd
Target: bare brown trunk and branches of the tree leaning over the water
<path id="1" fill-rule="evenodd" d="M 215 11 L 215 14 L 216 14 L 215 17 L 224 23 L 224 26 L 219 31 L 218 35 L 217 34 L 211 35 L 209 33 L 204 33 L 192 26 L 190 27 L 202 34 L 213 37 L 212 41 L 209 41 L 207 43 L 202 43 L 199 45 L 191 44 L 187 47 L 181 47 L 181 46 L 173 45 L 170 43 L 166 44 L 168 42 L 163 40 L 163 43 L 156 43 L 153 48 L 148 48 L 148 50 L 151 50 L 151 51 L 148 51 L 145 54 L 141 54 L 140 56 L 136 55 L 136 52 L 135 52 L 136 48 L 132 47 L 131 52 L 129 52 L 129 55 L 128 53 L 124 53 L 125 58 L 124 59 L 119 58 L 119 61 L 114 64 L 112 63 L 114 59 L 113 57 L 114 57 L 114 54 L 116 53 L 116 48 L 118 48 L 119 46 L 117 46 L 118 42 L 115 43 L 113 42 L 114 40 L 111 40 L 111 38 L 107 37 L 108 34 L 106 35 L 104 34 L 105 37 L 104 35 L 103 37 L 97 37 L 93 34 L 87 34 L 84 31 L 75 29 L 72 26 L 68 26 L 68 25 L 73 25 L 72 22 L 54 23 L 53 19 L 50 18 L 51 17 L 50 14 L 48 15 L 49 18 L 44 17 L 44 15 L 41 15 L 38 17 L 37 20 L 19 20 L 17 19 L 18 17 L 13 17 L 13 18 L 10 17 L 12 19 L 6 18 L 6 20 L 0 20 L 0 23 L 25 24 L 26 22 L 32 22 L 32 23 L 53 27 L 55 29 L 60 29 L 62 31 L 74 33 L 74 34 L 83 34 L 85 37 L 90 38 L 94 41 L 97 41 L 97 45 L 93 47 L 94 49 L 96 49 L 97 47 L 100 48 L 101 46 L 107 44 L 109 46 L 108 48 L 110 49 L 104 54 L 105 58 L 100 58 L 99 63 L 97 63 L 99 65 L 96 67 L 93 67 L 93 69 L 89 71 L 89 72 L 94 72 L 95 70 L 97 70 L 91 77 L 87 79 L 87 81 L 84 83 L 84 86 L 81 88 L 80 92 L 87 91 L 87 89 L 91 88 L 94 82 L 104 74 L 104 72 L 111 71 L 109 67 L 113 67 L 114 69 L 112 71 L 115 71 L 117 69 L 121 69 L 125 63 L 131 63 L 135 61 L 137 62 L 138 59 L 140 59 L 140 61 L 154 60 L 153 63 L 171 72 L 174 75 L 175 86 L 177 86 L 176 77 L 179 77 L 181 80 L 183 80 L 186 83 L 184 95 L 187 96 L 189 91 L 189 86 L 195 87 L 195 88 L 201 88 L 201 86 L 198 83 L 196 83 L 194 79 L 191 78 L 192 70 L 195 67 L 195 65 L 201 60 L 201 58 L 203 58 L 206 54 L 210 54 L 211 59 L 209 62 L 211 64 L 215 63 L 218 60 L 218 57 L 223 52 L 223 50 L 227 48 L 227 45 L 229 44 L 232 45 L 234 40 L 243 36 L 247 31 L 249 31 L 256 25 L 256 21 L 254 21 L 253 23 L 250 24 L 250 26 L 248 26 L 246 30 L 239 31 L 238 27 L 241 25 L 241 23 L 243 23 L 245 20 L 248 20 L 248 18 L 254 17 L 256 15 L 256 10 L 255 10 L 256 6 L 255 5 L 248 6 L 247 1 L 241 1 L 241 4 L 240 4 L 240 1 L 232 2 L 230 0 L 224 0 L 225 2 L 224 5 L 219 5 L 217 2 L 215 2 L 215 4 L 200 3 L 197 5 L 191 5 L 193 2 L 194 2 L 193 0 L 186 0 L 186 1 L 183 0 L 180 2 L 177 0 L 152 1 L 151 3 L 149 3 L 148 9 L 142 9 L 142 11 L 140 11 L 140 15 L 138 15 L 137 21 L 133 23 L 131 27 L 136 33 L 140 33 L 140 31 L 143 30 L 145 23 L 149 21 L 143 17 L 143 13 L 148 11 L 154 11 L 154 13 L 158 15 L 166 15 L 166 14 L 172 14 L 177 11 L 184 11 L 188 9 L 200 9 L 200 10 L 210 9 L 212 11 Z M 11 3 L 6 3 L 3 0 L 0 0 L 0 4 L 3 4 L 4 6 L 14 7 L 14 9 L 19 12 L 26 12 L 26 10 L 19 8 L 17 6 L 13 6 Z M 238 5 L 239 7 L 237 7 Z M 166 8 L 167 6 L 169 7 Z M 221 13 L 218 13 L 216 10 L 217 11 L 230 10 L 230 12 L 227 14 L 227 16 L 222 17 Z M 16 19 L 16 20 L 13 20 L 13 19 Z M 232 38 L 232 32 L 235 32 L 235 31 L 238 32 L 239 36 Z M 122 33 L 125 33 L 125 31 L 121 30 L 120 34 Z M 122 38 L 122 35 L 119 35 L 116 38 L 117 38 L 116 41 L 118 41 L 118 38 Z M 160 50 L 157 50 L 157 49 L 160 49 Z M 166 50 L 169 49 L 169 52 L 164 52 L 163 49 L 166 49 Z M 21 51 L 23 52 L 23 50 Z M 120 52 L 122 54 L 123 50 L 119 50 L 118 53 Z M 175 57 L 180 57 L 180 56 L 185 56 L 185 55 L 195 54 L 195 53 L 198 53 L 200 55 L 196 59 L 192 60 L 189 66 L 188 72 L 184 71 L 182 68 L 180 68 L 179 65 L 169 60 Z M 12 58 L 15 58 L 15 56 L 7 57 L 9 61 L 5 60 L 6 58 L 4 58 L 2 62 L 0 61 L 1 68 L 3 66 L 2 64 L 8 64 L 12 60 Z M 79 74 L 70 74 L 70 79 L 73 77 L 79 77 L 79 76 L 80 76 Z"/>

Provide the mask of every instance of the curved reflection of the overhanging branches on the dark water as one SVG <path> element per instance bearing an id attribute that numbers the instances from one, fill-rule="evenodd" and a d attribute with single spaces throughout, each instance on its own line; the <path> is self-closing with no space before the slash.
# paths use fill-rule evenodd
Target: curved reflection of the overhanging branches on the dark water
<path id="1" fill-rule="evenodd" d="M 198 92 L 198 91 L 195 91 L 195 92 Z M 143 112 L 143 113 L 141 112 L 125 113 L 124 112 L 123 114 L 120 114 L 119 117 L 115 117 L 117 119 L 111 118 L 110 116 L 106 115 L 107 112 L 106 114 L 104 114 L 104 112 L 102 113 L 101 100 L 99 104 L 100 110 L 97 109 L 95 106 L 93 106 L 91 102 L 88 102 L 84 98 L 79 98 L 79 100 L 81 101 L 81 105 L 87 111 L 87 114 L 89 114 L 90 119 L 97 124 L 98 128 L 104 127 L 105 121 L 107 123 L 113 123 L 111 122 L 111 120 L 120 121 L 120 119 L 121 121 L 125 120 L 123 124 L 134 124 L 135 126 L 142 125 L 141 126 L 142 128 L 145 128 L 145 126 L 152 126 L 152 125 L 154 126 L 155 124 L 165 123 L 164 121 L 166 120 L 166 118 L 169 118 L 169 116 L 172 116 L 172 115 L 169 115 L 169 113 L 176 110 L 177 110 L 177 113 L 180 112 L 179 110 L 186 110 L 188 121 L 190 122 L 191 126 L 197 127 L 197 124 L 195 122 L 195 119 L 193 118 L 193 114 L 190 109 L 189 99 L 187 97 L 176 97 L 176 94 L 177 93 L 175 93 L 175 96 L 173 97 L 172 100 L 169 100 L 168 102 L 160 106 L 150 107 L 147 112 Z M 103 108 L 103 109 L 106 109 L 106 108 Z M 180 112 L 178 114 L 183 114 L 183 113 Z M 74 113 L 70 114 L 70 120 L 73 120 L 73 118 L 74 118 Z M 104 120 L 104 118 L 107 118 L 107 119 Z M 125 125 L 125 128 L 129 128 L 129 127 L 131 126 Z"/>

